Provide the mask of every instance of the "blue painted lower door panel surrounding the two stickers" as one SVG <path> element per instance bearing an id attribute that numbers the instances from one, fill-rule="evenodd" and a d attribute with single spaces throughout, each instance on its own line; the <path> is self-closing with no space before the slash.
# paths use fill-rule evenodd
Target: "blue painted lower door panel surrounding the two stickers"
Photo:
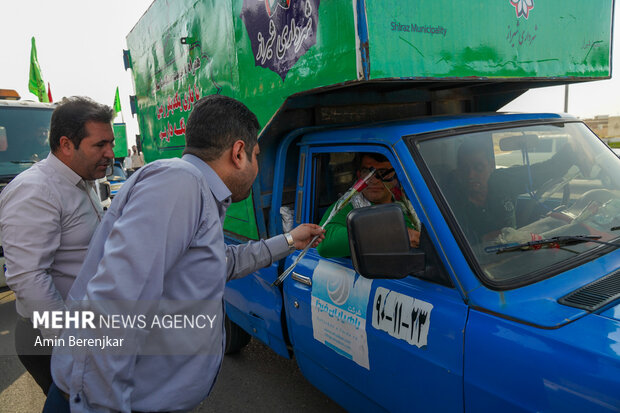
<path id="1" fill-rule="evenodd" d="M 291 259 L 293 257 L 287 261 Z M 322 275 L 322 269 L 317 272 L 321 262 L 321 265 L 328 263 L 328 270 L 354 271 L 350 262 L 344 259 L 325 260 L 318 254 L 309 254 L 305 261 L 309 264 L 297 267 L 296 272 L 313 282 Z M 310 306 L 317 305 L 311 296 L 312 289 L 300 283 L 286 282 L 284 297 L 288 330 L 302 372 L 313 383 L 320 383 L 327 374 L 331 376 L 333 390 L 327 394 L 350 411 L 406 412 L 413 406 L 420 410 L 459 410 L 463 406 L 463 331 L 467 318 L 467 307 L 461 297 L 453 289 L 429 286 L 415 279 L 373 282 L 370 297 L 374 297 L 380 288 L 435 304 L 437 311 L 433 312 L 433 323 L 439 327 L 429 331 L 428 337 L 433 346 L 426 349 L 412 347 L 404 340 L 396 340 L 387 332 L 367 325 L 368 360 L 354 360 L 354 348 L 347 352 L 342 350 L 346 345 L 323 345 L 317 341 L 311 319 Z M 338 317 L 334 316 L 334 320 Z M 370 322 L 368 318 L 366 321 Z M 329 343 L 328 340 L 325 342 Z M 299 358 L 300 355 L 303 359 Z M 365 367 L 366 362 L 371 369 Z M 343 388 L 347 388 L 344 394 L 350 391 L 357 394 L 355 397 L 334 396 Z M 432 406 L 425 400 L 433 400 Z"/>

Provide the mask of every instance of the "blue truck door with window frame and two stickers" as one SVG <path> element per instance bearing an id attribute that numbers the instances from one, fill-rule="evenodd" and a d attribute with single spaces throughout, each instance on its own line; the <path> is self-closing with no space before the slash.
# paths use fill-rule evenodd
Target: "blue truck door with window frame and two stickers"
<path id="1" fill-rule="evenodd" d="M 387 148 L 308 148 L 296 205 L 300 222 L 319 223 L 356 179 L 355 152 Z M 305 152 L 302 148 L 302 152 Z M 300 177 L 301 178 L 301 177 Z M 407 184 L 400 185 L 414 199 Z M 421 208 L 414 205 L 422 225 Z M 426 271 L 402 280 L 368 280 L 349 257 L 311 249 L 284 283 L 289 336 L 306 377 L 350 411 L 463 409 L 463 331 L 467 307 L 423 229 Z M 299 252 L 287 258 L 288 266 Z"/>

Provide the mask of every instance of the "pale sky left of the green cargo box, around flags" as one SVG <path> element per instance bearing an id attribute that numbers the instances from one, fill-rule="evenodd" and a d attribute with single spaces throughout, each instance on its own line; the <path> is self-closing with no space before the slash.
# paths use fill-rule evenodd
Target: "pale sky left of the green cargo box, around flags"
<path id="1" fill-rule="evenodd" d="M 0 88 L 28 91 L 30 39 L 36 39 L 43 80 L 52 98 L 89 96 L 112 106 L 119 88 L 127 141 L 135 142 L 136 118 L 129 96 L 131 71 L 125 71 L 125 37 L 153 0 L 0 0 Z M 122 121 L 119 114 L 116 122 Z"/>

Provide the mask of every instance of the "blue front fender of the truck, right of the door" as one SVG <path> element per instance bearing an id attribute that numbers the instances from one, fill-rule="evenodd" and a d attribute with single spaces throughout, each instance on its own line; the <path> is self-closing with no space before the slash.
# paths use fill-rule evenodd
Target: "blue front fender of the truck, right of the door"
<path id="1" fill-rule="evenodd" d="M 619 328 L 589 315 L 559 329 L 536 329 L 472 311 L 465 410 L 618 411 Z"/>

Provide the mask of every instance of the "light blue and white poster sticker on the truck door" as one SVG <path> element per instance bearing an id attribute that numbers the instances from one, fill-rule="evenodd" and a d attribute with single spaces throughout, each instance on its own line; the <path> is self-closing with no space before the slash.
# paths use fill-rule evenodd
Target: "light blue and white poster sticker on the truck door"
<path id="1" fill-rule="evenodd" d="M 328 261 L 319 261 L 312 275 L 314 338 L 367 369 L 366 309 L 371 287 L 372 280 Z"/>

